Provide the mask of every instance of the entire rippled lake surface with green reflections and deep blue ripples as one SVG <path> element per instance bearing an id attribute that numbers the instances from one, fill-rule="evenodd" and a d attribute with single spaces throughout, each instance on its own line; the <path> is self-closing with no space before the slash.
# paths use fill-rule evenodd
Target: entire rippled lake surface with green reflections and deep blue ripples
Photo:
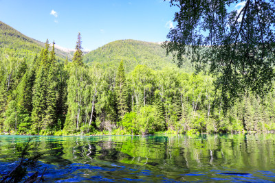
<path id="1" fill-rule="evenodd" d="M 1 174 L 27 139 L 0 136 Z M 275 134 L 38 136 L 34 147 L 46 182 L 275 181 Z"/>

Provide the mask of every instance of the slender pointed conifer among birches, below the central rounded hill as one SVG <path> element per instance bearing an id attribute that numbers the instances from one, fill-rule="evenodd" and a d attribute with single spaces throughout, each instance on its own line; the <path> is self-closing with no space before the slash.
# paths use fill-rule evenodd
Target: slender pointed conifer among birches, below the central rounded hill
<path id="1" fill-rule="evenodd" d="M 118 74 L 115 77 L 115 93 L 118 102 L 118 114 L 120 119 L 122 119 L 124 114 L 128 111 L 126 77 L 122 61 L 118 67 Z"/>

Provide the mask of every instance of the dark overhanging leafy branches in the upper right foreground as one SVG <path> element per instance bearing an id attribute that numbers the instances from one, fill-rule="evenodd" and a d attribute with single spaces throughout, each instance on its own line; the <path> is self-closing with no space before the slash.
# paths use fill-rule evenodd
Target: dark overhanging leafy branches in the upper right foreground
<path id="1" fill-rule="evenodd" d="M 275 78 L 275 3 L 248 0 L 232 10 L 237 2 L 170 1 L 179 8 L 177 25 L 163 45 L 179 65 L 190 56 L 197 71 L 207 67 L 217 77 L 224 109 L 245 90 L 263 97 Z"/>

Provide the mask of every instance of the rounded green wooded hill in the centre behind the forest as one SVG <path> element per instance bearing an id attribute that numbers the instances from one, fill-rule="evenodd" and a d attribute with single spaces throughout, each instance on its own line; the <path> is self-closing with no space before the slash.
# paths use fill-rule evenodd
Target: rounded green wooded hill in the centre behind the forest
<path id="1" fill-rule="evenodd" d="M 159 43 L 140 40 L 116 40 L 84 56 L 84 62 L 100 62 L 106 68 L 118 66 L 120 60 L 124 61 L 127 72 L 138 64 L 146 64 L 152 69 L 175 66 L 172 56 L 166 57 L 166 52 Z"/>

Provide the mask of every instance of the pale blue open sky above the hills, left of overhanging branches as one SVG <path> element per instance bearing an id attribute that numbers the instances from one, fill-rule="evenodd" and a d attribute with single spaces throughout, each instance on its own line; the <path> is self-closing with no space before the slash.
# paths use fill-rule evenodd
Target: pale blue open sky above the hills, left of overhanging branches
<path id="1" fill-rule="evenodd" d="M 167 40 L 176 11 L 163 0 L 0 0 L 0 21 L 69 49 L 74 49 L 78 32 L 89 50 L 120 39 Z"/>

